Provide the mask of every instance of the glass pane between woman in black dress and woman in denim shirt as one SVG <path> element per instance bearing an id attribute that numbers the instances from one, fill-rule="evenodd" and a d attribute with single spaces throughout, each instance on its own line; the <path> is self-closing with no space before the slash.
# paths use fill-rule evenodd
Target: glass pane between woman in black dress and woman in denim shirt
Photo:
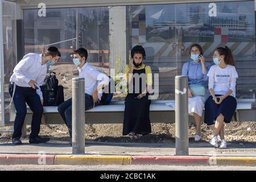
<path id="1" fill-rule="evenodd" d="M 146 51 L 144 63 L 152 73 L 159 73 L 159 100 L 174 100 L 174 77 L 177 75 L 179 27 L 176 5 L 130 6 L 130 48 L 141 45 Z"/>

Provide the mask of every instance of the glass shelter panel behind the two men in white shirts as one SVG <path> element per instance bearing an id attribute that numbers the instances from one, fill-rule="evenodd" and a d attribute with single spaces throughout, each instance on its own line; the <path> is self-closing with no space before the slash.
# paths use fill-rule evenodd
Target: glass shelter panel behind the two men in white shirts
<path id="1" fill-rule="evenodd" d="M 38 16 L 38 9 L 29 9 L 23 10 L 23 21 L 25 54 L 41 53 L 43 47 L 59 48 L 58 63 L 62 64 L 49 67 L 49 71 L 57 73 L 59 83 L 64 86 L 65 100 L 72 96 L 71 78 L 78 75 L 72 61 L 76 47 L 87 49 L 88 63 L 109 73 L 108 7 L 46 9 L 46 16 L 42 17 Z"/>

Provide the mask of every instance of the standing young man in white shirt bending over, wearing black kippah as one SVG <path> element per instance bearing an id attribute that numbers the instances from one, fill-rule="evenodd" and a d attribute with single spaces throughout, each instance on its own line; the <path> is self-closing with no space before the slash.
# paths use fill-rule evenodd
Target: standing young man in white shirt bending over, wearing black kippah
<path id="1" fill-rule="evenodd" d="M 13 144 L 22 144 L 22 126 L 27 114 L 27 106 L 33 111 L 30 143 L 46 143 L 49 138 L 39 137 L 43 115 L 43 93 L 40 86 L 47 75 L 47 65 L 54 65 L 60 59 L 56 47 L 49 47 L 43 54 L 28 53 L 15 66 L 10 78 L 9 92 L 14 102 L 16 117 L 14 121 Z"/>

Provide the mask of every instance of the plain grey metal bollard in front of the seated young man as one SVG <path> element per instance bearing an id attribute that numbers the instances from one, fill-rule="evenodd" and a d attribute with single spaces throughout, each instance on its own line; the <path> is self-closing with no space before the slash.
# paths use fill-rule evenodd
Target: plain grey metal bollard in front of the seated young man
<path id="1" fill-rule="evenodd" d="M 72 153 L 85 153 L 84 78 L 72 79 Z"/>

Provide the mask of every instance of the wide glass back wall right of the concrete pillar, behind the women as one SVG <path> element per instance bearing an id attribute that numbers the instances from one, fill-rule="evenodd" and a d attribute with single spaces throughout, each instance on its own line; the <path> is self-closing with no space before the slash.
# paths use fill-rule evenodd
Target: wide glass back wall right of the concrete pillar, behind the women
<path id="1" fill-rule="evenodd" d="M 130 6 L 130 48 L 146 49 L 145 63 L 159 71 L 159 99 L 174 99 L 174 78 L 199 43 L 207 62 L 228 46 L 237 61 L 237 97 L 256 86 L 254 1 Z"/>

